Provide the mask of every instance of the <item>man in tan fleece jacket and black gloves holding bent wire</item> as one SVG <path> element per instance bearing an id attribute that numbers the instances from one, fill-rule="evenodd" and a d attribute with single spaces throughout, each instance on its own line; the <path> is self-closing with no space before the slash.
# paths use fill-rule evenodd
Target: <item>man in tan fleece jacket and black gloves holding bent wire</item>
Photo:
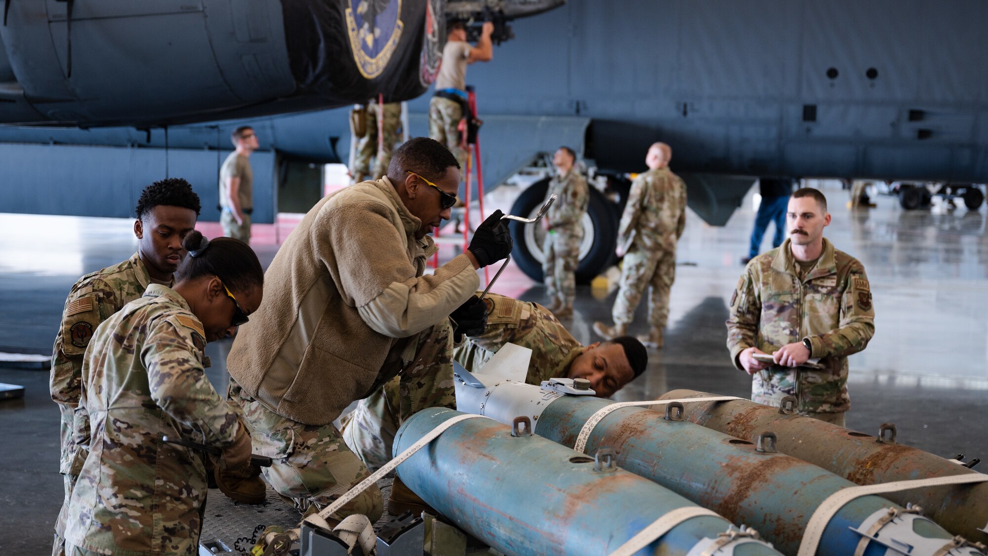
<path id="1" fill-rule="evenodd" d="M 274 459 L 265 480 L 298 510 L 327 506 L 369 475 L 333 425 L 350 403 L 400 376 L 402 417 L 453 405 L 451 314 L 470 306 L 476 269 L 511 251 L 498 212 L 467 252 L 423 276 L 437 250 L 428 233 L 450 219 L 458 187 L 453 154 L 411 139 L 386 176 L 319 201 L 265 274 L 265 304 L 227 360 L 229 397 L 254 452 Z M 381 511 L 372 487 L 333 517 Z"/>

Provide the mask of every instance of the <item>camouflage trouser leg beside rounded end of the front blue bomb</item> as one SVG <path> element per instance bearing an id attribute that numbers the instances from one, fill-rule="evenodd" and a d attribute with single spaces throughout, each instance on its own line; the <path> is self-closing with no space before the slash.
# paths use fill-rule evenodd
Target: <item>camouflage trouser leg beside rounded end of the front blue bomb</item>
<path id="1" fill-rule="evenodd" d="M 415 360 L 343 418 L 343 439 L 375 471 L 391 460 L 394 434 L 401 423 L 419 411 L 437 407 L 456 407 L 449 321 L 423 331 Z"/>

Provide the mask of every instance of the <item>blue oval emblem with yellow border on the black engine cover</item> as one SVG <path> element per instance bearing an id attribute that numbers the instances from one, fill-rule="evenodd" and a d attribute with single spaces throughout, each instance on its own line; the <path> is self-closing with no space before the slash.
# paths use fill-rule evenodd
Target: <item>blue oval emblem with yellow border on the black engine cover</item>
<path id="1" fill-rule="evenodd" d="M 401 40 L 401 0 L 350 0 L 347 35 L 354 61 L 368 79 L 381 74 Z"/>

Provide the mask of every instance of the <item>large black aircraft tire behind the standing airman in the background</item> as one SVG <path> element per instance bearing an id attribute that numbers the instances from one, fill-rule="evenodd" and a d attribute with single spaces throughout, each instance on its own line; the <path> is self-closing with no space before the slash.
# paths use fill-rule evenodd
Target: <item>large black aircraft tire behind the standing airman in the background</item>
<path id="1" fill-rule="evenodd" d="M 535 182 L 522 192 L 511 207 L 511 214 L 532 218 L 538 212 L 548 191 L 548 178 Z M 590 188 L 590 203 L 584 217 L 584 241 L 580 246 L 580 264 L 576 267 L 576 283 L 589 284 L 595 276 L 614 264 L 617 244 L 617 218 L 610 201 L 594 187 Z M 511 236 L 515 248 L 512 259 L 522 272 L 536 282 L 542 281 L 541 223 L 522 224 L 511 221 Z M 528 230 L 527 230 L 528 229 Z M 497 263 L 495 263 L 497 264 Z"/>

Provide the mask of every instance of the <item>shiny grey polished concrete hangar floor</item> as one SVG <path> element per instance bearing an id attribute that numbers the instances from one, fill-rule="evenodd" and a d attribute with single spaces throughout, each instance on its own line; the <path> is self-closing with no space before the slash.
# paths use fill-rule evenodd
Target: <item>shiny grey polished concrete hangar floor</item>
<path id="1" fill-rule="evenodd" d="M 834 215 L 827 236 L 864 262 L 874 293 L 876 333 L 851 358 L 848 425 L 875 433 L 894 422 L 899 441 L 941 456 L 988 459 L 988 238 L 985 209 L 906 212 L 894 198 L 850 211 L 848 194 L 825 190 Z M 690 214 L 680 241 L 666 347 L 651 352 L 647 372 L 616 396 L 654 398 L 693 388 L 747 396 L 750 382 L 728 361 L 726 301 L 742 270 L 753 221 L 752 195 L 724 228 Z M 50 349 L 69 286 L 82 274 L 118 262 L 134 250 L 131 223 L 0 215 L 0 351 Z M 771 238 L 766 238 L 766 245 Z M 267 264 L 276 246 L 256 244 Z M 453 252 L 453 246 L 446 251 Z M 506 272 L 495 291 L 542 301 L 540 285 Z M 595 341 L 591 324 L 610 319 L 614 292 L 581 287 L 570 329 Z M 639 308 L 632 331 L 644 331 Z M 10 350 L 10 349 L 6 349 Z M 226 342 L 208 351 L 214 384 L 224 381 Z M 44 554 L 61 504 L 58 411 L 48 399 L 47 373 L 0 367 L 0 382 L 27 388 L 23 400 L 0 401 L 0 548 Z M 981 467 L 988 466 L 988 463 Z"/>

